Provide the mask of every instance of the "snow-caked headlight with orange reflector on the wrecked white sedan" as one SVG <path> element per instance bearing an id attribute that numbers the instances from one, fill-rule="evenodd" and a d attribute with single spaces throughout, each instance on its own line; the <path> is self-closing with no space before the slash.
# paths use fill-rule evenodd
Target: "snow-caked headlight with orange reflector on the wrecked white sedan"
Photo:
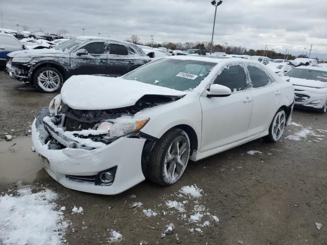
<path id="1" fill-rule="evenodd" d="M 95 129 L 108 131 L 110 137 L 120 137 L 141 130 L 149 119 L 115 119 L 112 122 L 102 121 L 96 125 Z"/>

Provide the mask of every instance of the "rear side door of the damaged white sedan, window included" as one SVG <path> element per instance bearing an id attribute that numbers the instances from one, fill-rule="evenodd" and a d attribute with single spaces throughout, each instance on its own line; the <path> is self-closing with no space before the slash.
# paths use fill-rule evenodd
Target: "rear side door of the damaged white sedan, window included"
<path id="1" fill-rule="evenodd" d="M 282 100 L 281 88 L 261 65 L 246 64 L 249 72 L 253 106 L 248 136 L 267 130 Z"/>

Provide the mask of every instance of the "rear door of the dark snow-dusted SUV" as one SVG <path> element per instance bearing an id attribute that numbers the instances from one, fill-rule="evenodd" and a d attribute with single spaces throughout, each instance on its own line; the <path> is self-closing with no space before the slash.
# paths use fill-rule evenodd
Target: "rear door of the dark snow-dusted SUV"
<path id="1" fill-rule="evenodd" d="M 108 76 L 120 77 L 134 65 L 127 47 L 121 43 L 109 42 Z"/>

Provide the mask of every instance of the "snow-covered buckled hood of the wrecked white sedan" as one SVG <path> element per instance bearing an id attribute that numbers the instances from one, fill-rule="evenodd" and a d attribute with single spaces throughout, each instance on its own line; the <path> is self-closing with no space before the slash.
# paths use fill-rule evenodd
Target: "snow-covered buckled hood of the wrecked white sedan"
<path id="1" fill-rule="evenodd" d="M 133 106 L 144 95 L 183 96 L 186 91 L 135 80 L 73 76 L 61 88 L 62 101 L 77 110 L 108 110 Z"/>

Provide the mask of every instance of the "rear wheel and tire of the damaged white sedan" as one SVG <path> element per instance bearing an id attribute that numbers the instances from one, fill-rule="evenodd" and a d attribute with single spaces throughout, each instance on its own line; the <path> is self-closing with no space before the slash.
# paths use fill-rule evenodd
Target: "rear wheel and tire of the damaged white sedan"
<path id="1" fill-rule="evenodd" d="M 269 127 L 269 134 L 265 139 L 269 142 L 277 142 L 283 135 L 286 124 L 286 114 L 283 109 L 279 109 Z"/>

